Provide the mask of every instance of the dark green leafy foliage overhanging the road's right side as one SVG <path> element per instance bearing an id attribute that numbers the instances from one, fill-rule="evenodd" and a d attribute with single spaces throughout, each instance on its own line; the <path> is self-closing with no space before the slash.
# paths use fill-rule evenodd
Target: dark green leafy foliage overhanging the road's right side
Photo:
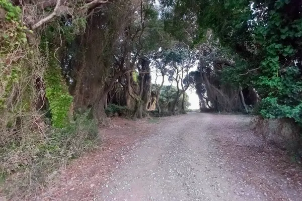
<path id="1" fill-rule="evenodd" d="M 175 24 L 193 13 L 199 29 L 213 30 L 235 60 L 234 68 L 223 68 L 220 80 L 235 87 L 256 88 L 262 100 L 259 112 L 263 117 L 292 118 L 302 123 L 300 1 L 163 0 L 161 3 L 174 12 Z"/>

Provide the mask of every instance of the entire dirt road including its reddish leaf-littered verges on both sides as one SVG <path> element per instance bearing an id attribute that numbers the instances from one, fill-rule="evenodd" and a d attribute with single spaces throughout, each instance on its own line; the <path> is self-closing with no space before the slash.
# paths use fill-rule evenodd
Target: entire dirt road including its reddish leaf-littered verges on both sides
<path id="1" fill-rule="evenodd" d="M 116 123 L 105 132 L 104 149 L 73 162 L 44 198 L 302 200 L 301 168 L 252 133 L 249 122 L 192 113 Z"/>

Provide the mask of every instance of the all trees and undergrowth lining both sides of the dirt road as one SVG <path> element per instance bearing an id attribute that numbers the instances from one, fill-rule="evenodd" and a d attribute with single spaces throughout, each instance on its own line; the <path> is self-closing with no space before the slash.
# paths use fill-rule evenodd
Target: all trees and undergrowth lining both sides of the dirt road
<path id="1" fill-rule="evenodd" d="M 159 4 L 158 4 L 159 3 Z M 298 0 L 0 0 L 0 181 L 30 198 L 110 117 L 280 119 L 301 149 Z M 196 112 L 196 111 L 194 111 Z M 289 123 L 289 124 L 288 124 Z"/>

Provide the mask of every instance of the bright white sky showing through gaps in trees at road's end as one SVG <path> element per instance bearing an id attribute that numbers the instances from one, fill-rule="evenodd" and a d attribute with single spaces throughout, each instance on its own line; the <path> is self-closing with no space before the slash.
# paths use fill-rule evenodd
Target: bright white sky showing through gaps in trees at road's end
<path id="1" fill-rule="evenodd" d="M 195 68 L 192 69 L 193 70 L 196 70 Z M 152 71 L 151 72 L 151 76 L 152 76 L 152 82 L 155 83 L 155 80 L 156 80 L 156 72 Z M 158 78 L 157 78 L 157 84 L 161 84 L 162 83 L 162 76 L 159 75 Z M 170 85 L 171 83 L 168 81 L 168 77 L 165 77 L 165 83 L 164 85 Z M 176 86 L 176 83 L 173 82 L 173 85 Z M 189 95 L 189 102 L 191 103 L 191 106 L 189 107 L 189 109 L 192 109 L 192 110 L 195 110 L 195 109 L 199 109 L 199 98 L 198 98 L 198 95 L 195 93 L 195 89 L 193 88 L 189 88 L 187 91 L 187 94 Z"/>

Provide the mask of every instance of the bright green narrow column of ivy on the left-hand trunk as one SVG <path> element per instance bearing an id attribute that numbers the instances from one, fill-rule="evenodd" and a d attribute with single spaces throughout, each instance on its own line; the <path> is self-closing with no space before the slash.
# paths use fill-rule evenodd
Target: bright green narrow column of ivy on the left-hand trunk
<path id="1" fill-rule="evenodd" d="M 57 60 L 51 55 L 48 65 L 45 74 L 45 91 L 49 102 L 51 123 L 56 128 L 64 128 L 69 123 L 68 113 L 70 112 L 72 96 L 68 93 Z"/>

